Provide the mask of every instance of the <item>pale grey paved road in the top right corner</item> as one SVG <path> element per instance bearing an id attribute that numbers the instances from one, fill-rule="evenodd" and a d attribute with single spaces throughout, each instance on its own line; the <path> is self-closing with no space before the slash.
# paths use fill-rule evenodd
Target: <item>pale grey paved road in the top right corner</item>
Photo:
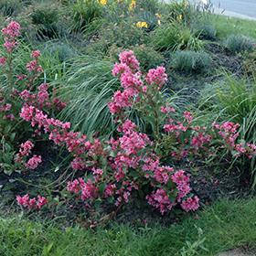
<path id="1" fill-rule="evenodd" d="M 244 16 L 256 17 L 256 0 L 208 0 L 216 8 Z"/>

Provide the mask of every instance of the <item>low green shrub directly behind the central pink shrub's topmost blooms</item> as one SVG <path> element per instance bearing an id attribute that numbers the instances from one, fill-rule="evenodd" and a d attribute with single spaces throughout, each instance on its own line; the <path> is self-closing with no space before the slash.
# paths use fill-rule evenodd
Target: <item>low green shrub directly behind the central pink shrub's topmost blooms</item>
<path id="1" fill-rule="evenodd" d="M 113 63 L 119 61 L 119 54 L 123 52 L 125 48 L 118 48 L 116 45 L 112 45 L 109 50 L 110 59 Z M 127 49 L 126 49 L 127 50 Z M 156 69 L 157 66 L 161 64 L 164 57 L 155 51 L 152 47 L 147 47 L 145 45 L 136 45 L 133 47 L 133 52 L 138 61 L 140 62 L 140 67 L 142 71 L 148 71 L 149 69 Z"/>

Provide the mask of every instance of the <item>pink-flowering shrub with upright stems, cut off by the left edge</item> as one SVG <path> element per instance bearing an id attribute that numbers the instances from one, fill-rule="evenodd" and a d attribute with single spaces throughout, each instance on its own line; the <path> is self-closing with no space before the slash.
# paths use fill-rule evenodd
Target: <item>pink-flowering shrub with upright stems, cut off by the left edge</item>
<path id="1" fill-rule="evenodd" d="M 9 175 L 13 171 L 35 169 L 42 161 L 41 156 L 37 155 L 33 155 L 27 161 L 33 147 L 29 140 L 41 135 L 41 131 L 36 129 L 31 133 L 31 124 L 20 116 L 21 108 L 26 106 L 31 110 L 36 107 L 37 110 L 54 113 L 66 107 L 66 104 L 56 97 L 57 89 L 50 91 L 48 84 L 45 83 L 37 87 L 35 85 L 35 81 L 43 72 L 41 65 L 38 64 L 41 56 L 39 50 L 32 51 L 32 60 L 27 63 L 25 74 L 15 73 L 16 65 L 19 65 L 15 59 L 19 29 L 20 26 L 15 21 L 2 29 L 5 38 L 3 47 L 6 50 L 5 54 L 0 56 L 0 65 L 7 78 L 6 84 L 2 83 L 0 86 L 0 136 L 3 144 L 0 151 L 0 171 L 4 170 Z M 21 144 L 26 140 L 25 144 Z M 18 144 L 21 144 L 21 148 L 16 154 Z"/>

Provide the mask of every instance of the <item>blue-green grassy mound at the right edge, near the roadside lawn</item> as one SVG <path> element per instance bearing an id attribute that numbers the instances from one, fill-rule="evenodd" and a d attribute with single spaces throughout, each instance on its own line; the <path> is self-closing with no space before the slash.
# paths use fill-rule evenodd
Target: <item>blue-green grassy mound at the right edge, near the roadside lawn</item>
<path id="1" fill-rule="evenodd" d="M 234 53 L 240 53 L 246 50 L 251 52 L 253 50 L 252 43 L 256 43 L 256 40 L 251 37 L 245 37 L 241 34 L 238 36 L 231 34 L 225 39 L 224 42 L 230 51 Z"/>

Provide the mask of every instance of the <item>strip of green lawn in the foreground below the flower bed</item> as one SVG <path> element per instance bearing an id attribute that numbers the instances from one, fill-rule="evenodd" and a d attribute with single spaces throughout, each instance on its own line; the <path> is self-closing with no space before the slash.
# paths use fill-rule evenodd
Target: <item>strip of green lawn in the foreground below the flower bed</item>
<path id="1" fill-rule="evenodd" d="M 61 227 L 54 220 L 29 220 L 22 214 L 2 216 L 0 255 L 217 255 L 234 247 L 253 250 L 255 211 L 255 197 L 222 198 L 195 213 L 198 219 L 192 215 L 176 226 L 149 222 L 138 228 L 112 222 L 95 232 Z"/>

